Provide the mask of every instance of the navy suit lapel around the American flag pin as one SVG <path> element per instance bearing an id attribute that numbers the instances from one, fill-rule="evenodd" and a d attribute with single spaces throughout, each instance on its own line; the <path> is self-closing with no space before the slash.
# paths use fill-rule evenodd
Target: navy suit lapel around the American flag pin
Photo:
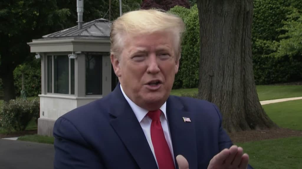
<path id="1" fill-rule="evenodd" d="M 185 122 L 183 117 L 191 119 Z M 183 104 L 175 97 L 170 96 L 167 100 L 167 118 L 172 139 L 174 156 L 183 155 L 189 163 L 190 169 L 197 168 L 197 147 L 195 121 L 191 112 L 184 110 Z M 176 163 L 176 168 L 177 162 Z"/>

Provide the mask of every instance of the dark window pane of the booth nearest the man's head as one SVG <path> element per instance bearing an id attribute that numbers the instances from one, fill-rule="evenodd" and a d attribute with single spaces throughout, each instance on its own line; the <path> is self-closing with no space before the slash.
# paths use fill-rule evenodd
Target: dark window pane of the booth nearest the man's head
<path id="1" fill-rule="evenodd" d="M 102 56 L 86 55 L 86 95 L 102 94 Z"/>

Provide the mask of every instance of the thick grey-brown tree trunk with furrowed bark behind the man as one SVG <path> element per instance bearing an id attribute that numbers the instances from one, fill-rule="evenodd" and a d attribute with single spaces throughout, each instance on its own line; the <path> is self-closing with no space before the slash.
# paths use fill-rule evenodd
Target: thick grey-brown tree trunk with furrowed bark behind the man
<path id="1" fill-rule="evenodd" d="M 228 132 L 275 127 L 256 93 L 252 0 L 199 0 L 198 96 L 216 104 Z"/>

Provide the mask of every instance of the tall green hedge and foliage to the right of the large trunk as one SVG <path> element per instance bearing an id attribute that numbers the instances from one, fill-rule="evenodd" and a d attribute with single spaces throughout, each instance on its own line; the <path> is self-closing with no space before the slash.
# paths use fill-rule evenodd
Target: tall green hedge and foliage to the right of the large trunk
<path id="1" fill-rule="evenodd" d="M 253 71 L 256 84 L 302 80 L 302 3 L 255 0 Z"/>

